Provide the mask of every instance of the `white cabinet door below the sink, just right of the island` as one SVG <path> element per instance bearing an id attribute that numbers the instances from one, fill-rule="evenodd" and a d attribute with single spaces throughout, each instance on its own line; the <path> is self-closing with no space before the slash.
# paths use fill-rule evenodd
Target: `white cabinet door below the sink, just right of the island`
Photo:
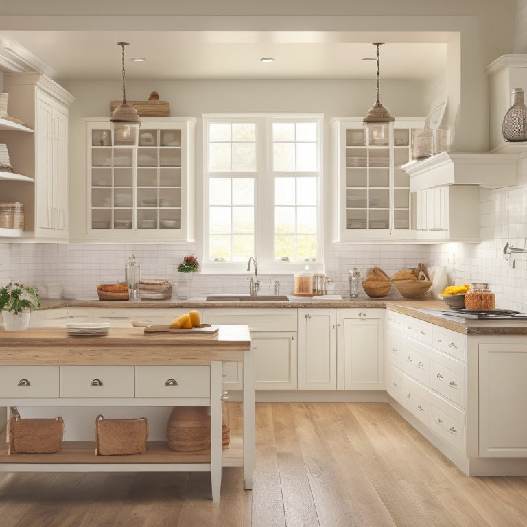
<path id="1" fill-rule="evenodd" d="M 251 333 L 255 353 L 255 390 L 296 390 L 295 333 Z"/>

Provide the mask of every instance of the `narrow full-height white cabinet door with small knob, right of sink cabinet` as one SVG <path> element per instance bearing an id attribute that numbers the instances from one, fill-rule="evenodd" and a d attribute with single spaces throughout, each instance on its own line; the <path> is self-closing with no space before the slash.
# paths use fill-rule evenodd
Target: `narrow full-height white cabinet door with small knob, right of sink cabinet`
<path id="1" fill-rule="evenodd" d="M 298 309 L 298 389 L 336 390 L 335 309 Z"/>

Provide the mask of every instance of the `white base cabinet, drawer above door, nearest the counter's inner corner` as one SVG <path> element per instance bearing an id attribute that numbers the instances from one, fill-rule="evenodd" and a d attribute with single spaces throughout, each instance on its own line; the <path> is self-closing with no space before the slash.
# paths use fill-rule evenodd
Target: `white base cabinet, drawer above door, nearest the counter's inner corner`
<path id="1" fill-rule="evenodd" d="M 338 389 L 384 389 L 383 322 L 384 309 L 337 309 Z"/>

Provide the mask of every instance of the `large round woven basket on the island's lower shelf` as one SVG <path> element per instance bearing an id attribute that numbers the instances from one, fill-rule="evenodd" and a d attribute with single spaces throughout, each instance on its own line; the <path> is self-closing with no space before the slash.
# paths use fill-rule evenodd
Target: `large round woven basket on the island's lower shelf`
<path id="1" fill-rule="evenodd" d="M 225 411 L 224 411 L 225 416 Z M 211 449 L 211 416 L 207 406 L 176 406 L 167 423 L 168 446 L 178 452 Z M 231 429 L 222 424 L 222 449 L 229 446 Z"/>

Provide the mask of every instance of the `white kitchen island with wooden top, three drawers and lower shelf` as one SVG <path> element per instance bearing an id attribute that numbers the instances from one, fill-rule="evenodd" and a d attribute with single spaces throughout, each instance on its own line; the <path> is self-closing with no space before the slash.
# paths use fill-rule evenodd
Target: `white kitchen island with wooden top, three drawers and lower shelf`
<path id="1" fill-rule="evenodd" d="M 243 442 L 222 454 L 222 362 L 243 363 Z M 102 379 L 102 380 L 101 380 Z M 244 325 L 213 335 L 112 329 L 68 336 L 65 328 L 0 331 L 0 406 L 210 406 L 211 452 L 174 452 L 149 442 L 146 454 L 95 456 L 94 441 L 65 442 L 58 454 L 7 454 L 2 471 L 211 471 L 218 501 L 222 465 L 242 465 L 246 489 L 255 465 L 253 350 Z M 21 410 L 22 417 L 23 410 Z M 65 423 L 66 426 L 69 423 Z"/>

